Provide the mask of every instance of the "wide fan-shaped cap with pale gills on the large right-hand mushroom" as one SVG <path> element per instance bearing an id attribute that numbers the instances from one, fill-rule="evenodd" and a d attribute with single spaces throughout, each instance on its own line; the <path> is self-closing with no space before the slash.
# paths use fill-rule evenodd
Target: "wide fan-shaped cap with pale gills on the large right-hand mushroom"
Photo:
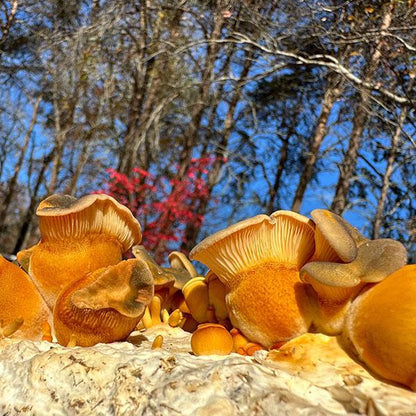
<path id="1" fill-rule="evenodd" d="M 313 234 L 314 224 L 308 218 L 276 211 L 270 217 L 257 215 L 207 237 L 189 257 L 207 265 L 223 281 L 265 261 L 300 268 L 313 254 Z"/>

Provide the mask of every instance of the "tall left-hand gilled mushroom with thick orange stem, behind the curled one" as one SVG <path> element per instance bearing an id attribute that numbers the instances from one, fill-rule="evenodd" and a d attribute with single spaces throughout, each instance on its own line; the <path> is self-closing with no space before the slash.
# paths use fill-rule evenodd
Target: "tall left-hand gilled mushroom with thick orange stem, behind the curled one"
<path id="1" fill-rule="evenodd" d="M 19 252 L 18 260 L 51 309 L 64 286 L 117 264 L 141 240 L 138 221 L 108 195 L 52 195 L 39 204 L 36 214 L 41 240 Z"/>

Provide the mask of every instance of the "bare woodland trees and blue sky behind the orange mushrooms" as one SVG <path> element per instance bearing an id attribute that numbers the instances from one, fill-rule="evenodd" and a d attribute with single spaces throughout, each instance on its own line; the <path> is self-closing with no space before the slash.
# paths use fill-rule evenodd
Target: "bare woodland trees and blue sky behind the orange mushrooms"
<path id="1" fill-rule="evenodd" d="M 136 168 L 203 180 L 184 251 L 325 207 L 415 255 L 413 1 L 1 0 L 0 25 L 1 251 L 37 240 L 47 195 Z"/>

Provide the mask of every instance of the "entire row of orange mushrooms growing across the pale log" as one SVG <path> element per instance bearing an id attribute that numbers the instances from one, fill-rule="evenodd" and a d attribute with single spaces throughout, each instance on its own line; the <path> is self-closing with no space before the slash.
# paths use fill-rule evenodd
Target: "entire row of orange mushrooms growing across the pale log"
<path id="1" fill-rule="evenodd" d="M 194 247 L 200 276 L 179 252 L 157 264 L 112 197 L 52 195 L 37 215 L 41 240 L 17 255 L 27 273 L 0 257 L 0 336 L 89 346 L 170 325 L 193 333 L 196 355 L 252 355 L 320 332 L 416 390 L 416 265 L 397 241 L 369 240 L 327 210 L 277 211 Z"/>

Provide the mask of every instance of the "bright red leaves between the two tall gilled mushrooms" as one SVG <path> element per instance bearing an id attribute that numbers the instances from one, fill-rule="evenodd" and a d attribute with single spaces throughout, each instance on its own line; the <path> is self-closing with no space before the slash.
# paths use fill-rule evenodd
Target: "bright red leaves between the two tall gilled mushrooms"
<path id="1" fill-rule="evenodd" d="M 191 159 L 182 179 L 134 168 L 130 177 L 108 169 L 109 180 L 99 191 L 127 206 L 143 225 L 143 245 L 158 261 L 186 243 L 188 224 L 201 226 L 204 217 L 195 212 L 209 198 L 207 175 L 218 160 L 213 156 Z M 175 247 L 176 246 L 176 247 Z"/>

